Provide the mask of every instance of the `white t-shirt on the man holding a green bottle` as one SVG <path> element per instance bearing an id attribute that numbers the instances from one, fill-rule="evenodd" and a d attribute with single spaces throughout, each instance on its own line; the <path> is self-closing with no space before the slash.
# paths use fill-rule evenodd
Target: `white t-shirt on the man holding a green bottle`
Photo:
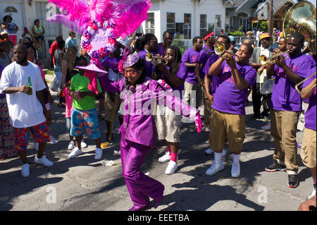
<path id="1" fill-rule="evenodd" d="M 0 93 L 8 87 L 21 87 L 27 85 L 30 77 L 32 83 L 32 95 L 21 92 L 6 95 L 11 125 L 14 128 L 29 128 L 46 121 L 42 104 L 37 99 L 36 92 L 46 88 L 39 67 L 28 62 L 27 66 L 20 66 L 13 62 L 4 68 L 0 80 Z"/>

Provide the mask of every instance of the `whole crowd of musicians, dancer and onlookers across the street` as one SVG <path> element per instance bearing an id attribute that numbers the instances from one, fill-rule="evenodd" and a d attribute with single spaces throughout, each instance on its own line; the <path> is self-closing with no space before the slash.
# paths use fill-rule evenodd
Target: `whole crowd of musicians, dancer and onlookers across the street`
<path id="1" fill-rule="evenodd" d="M 12 18 L 5 19 L 2 25 L 8 31 L 14 30 Z M 111 142 L 113 118 L 118 116 L 123 177 L 134 204 L 131 210 L 147 208 L 149 197 L 154 199 L 154 207 L 158 207 L 163 200 L 163 184 L 139 170 L 149 150 L 155 147 L 156 138 L 166 143 L 166 152 L 158 160 L 168 162 L 166 174 L 174 174 L 178 169 L 182 117 L 191 118 L 198 132 L 201 129 L 209 132 L 210 147 L 206 154 L 213 153 L 215 157 L 206 175 L 223 170 L 223 157 L 230 152 L 231 176 L 239 177 L 247 120 L 245 107 L 252 93 L 251 119 L 267 121 L 263 128 L 271 129 L 274 139 L 273 162 L 265 170 L 287 171 L 290 188 L 299 185 L 296 132 L 302 102 L 306 100 L 301 157 L 313 178 L 309 198 L 316 195 L 316 87 L 309 89 L 316 85 L 316 75 L 303 83 L 302 95 L 294 87 L 316 72 L 316 55 L 302 52 L 302 34 L 280 37 L 278 48 L 272 49 L 274 37 L 263 32 L 259 41 L 254 42 L 254 32 L 249 31 L 233 54 L 234 37 L 224 33 L 216 37 L 213 32 L 206 32 L 204 37 L 194 37 L 193 47 L 181 54 L 173 45 L 175 35 L 171 32 L 163 33 L 161 43 L 151 33 L 135 32 L 126 39 L 118 39 L 112 54 L 94 62 L 108 74 L 97 73 L 92 89 L 87 65 L 93 59 L 77 43 L 73 31 L 66 41 L 58 36 L 51 44 L 49 53 L 55 76 L 50 87 L 47 85 L 43 67 L 37 60 L 44 33 L 39 20 L 35 20 L 32 33 L 25 30 L 19 41 L 11 37 L 11 32 L 1 33 L 0 38 L 0 157 L 20 154 L 22 176 L 30 176 L 26 154 L 29 133 L 37 146 L 35 163 L 53 166 L 44 154 L 46 142 L 58 142 L 49 128 L 52 90 L 58 92 L 58 106 L 65 104 L 70 138 L 68 157 L 77 157 L 87 147 L 83 141 L 85 131 L 87 138 L 96 142 L 94 159 L 101 159 L 99 120 L 105 119 L 106 141 Z M 226 51 L 216 54 L 215 46 L 219 43 Z M 280 54 L 275 63 L 261 63 L 260 56 L 275 54 Z M 271 78 L 275 78 L 273 92 L 262 95 L 263 83 Z M 151 99 L 154 104 L 149 107 Z M 204 104 L 202 128 L 201 104 Z M 134 105 L 139 105 L 142 111 L 131 107 Z"/>

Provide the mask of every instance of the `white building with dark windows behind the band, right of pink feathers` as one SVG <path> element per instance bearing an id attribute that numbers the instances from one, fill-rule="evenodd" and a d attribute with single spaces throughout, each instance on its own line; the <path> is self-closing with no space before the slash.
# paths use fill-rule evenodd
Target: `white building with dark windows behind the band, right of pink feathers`
<path id="1" fill-rule="evenodd" d="M 153 33 L 159 42 L 163 32 L 183 32 L 185 39 L 201 36 L 207 30 L 218 35 L 225 29 L 225 0 L 151 0 L 149 18 L 141 32 Z"/>

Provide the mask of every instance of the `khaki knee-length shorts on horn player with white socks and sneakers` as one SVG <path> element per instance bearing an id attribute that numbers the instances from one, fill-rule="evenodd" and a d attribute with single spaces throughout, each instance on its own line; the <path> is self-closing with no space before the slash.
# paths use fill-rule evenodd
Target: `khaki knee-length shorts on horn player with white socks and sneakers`
<path id="1" fill-rule="evenodd" d="M 228 138 L 229 151 L 240 154 L 244 142 L 245 116 L 228 114 L 213 109 L 210 120 L 209 145 L 211 150 L 220 152 L 225 147 Z"/>

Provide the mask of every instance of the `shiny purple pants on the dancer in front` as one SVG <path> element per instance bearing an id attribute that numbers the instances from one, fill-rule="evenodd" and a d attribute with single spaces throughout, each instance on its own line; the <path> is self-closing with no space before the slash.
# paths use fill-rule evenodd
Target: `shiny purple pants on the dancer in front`
<path id="1" fill-rule="evenodd" d="M 139 171 L 149 150 L 150 147 L 121 138 L 120 154 L 123 177 L 131 200 L 137 207 L 149 205 L 149 197 L 155 201 L 159 201 L 163 197 L 163 184 Z"/>

